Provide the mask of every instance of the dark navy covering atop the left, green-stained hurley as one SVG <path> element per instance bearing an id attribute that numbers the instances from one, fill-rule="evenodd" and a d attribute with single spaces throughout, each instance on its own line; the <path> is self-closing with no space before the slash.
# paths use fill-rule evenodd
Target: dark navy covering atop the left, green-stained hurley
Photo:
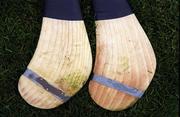
<path id="1" fill-rule="evenodd" d="M 79 0 L 44 0 L 44 17 L 82 20 Z"/>

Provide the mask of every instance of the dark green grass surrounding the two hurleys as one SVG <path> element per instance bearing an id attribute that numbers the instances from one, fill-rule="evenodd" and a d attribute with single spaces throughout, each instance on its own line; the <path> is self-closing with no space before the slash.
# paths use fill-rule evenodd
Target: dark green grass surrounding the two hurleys
<path id="1" fill-rule="evenodd" d="M 82 0 L 95 55 L 95 27 L 90 0 Z M 157 71 L 150 87 L 132 108 L 106 111 L 88 94 L 88 83 L 66 104 L 53 110 L 29 106 L 17 90 L 39 38 L 42 0 L 0 0 L 0 117 L 178 117 L 178 0 L 130 0 L 156 53 Z"/>

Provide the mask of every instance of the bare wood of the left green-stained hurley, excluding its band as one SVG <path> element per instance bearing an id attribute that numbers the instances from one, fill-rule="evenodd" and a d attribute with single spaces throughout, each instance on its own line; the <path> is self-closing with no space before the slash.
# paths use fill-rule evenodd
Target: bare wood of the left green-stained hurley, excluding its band
<path id="1" fill-rule="evenodd" d="M 84 22 L 44 17 L 38 46 L 28 68 L 66 95 L 73 96 L 87 81 L 91 67 Z M 63 103 L 24 76 L 18 87 L 21 96 L 32 106 L 49 109 Z"/>

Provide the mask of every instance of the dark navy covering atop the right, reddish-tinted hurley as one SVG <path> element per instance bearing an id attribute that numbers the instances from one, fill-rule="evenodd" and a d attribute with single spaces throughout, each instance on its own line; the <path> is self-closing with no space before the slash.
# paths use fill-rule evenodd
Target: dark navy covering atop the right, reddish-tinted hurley
<path id="1" fill-rule="evenodd" d="M 127 0 L 92 0 L 96 20 L 124 17 L 132 14 Z"/>

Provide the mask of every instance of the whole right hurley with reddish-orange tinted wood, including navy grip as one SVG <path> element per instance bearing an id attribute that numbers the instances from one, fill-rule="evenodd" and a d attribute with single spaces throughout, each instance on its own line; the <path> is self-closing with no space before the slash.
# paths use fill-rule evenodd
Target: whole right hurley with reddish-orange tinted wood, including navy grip
<path id="1" fill-rule="evenodd" d="M 126 0 L 93 0 L 97 53 L 92 99 L 120 111 L 132 106 L 148 88 L 156 69 L 153 48 Z"/>

